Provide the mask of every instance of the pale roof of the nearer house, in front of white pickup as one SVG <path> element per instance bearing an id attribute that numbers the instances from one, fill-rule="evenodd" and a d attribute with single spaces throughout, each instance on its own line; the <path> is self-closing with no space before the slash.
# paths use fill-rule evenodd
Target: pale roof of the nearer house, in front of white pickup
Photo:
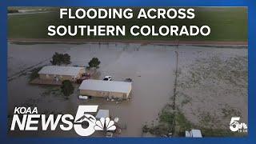
<path id="1" fill-rule="evenodd" d="M 79 90 L 98 90 L 119 93 L 130 93 L 131 82 L 86 79 L 82 81 L 82 84 L 79 86 Z"/>

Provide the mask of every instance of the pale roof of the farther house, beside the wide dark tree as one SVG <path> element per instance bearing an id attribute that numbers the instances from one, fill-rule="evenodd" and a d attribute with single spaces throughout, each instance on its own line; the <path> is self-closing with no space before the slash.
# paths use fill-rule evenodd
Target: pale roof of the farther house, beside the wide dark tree
<path id="1" fill-rule="evenodd" d="M 71 75 L 76 76 L 79 74 L 80 70 L 84 67 L 74 67 L 74 66 L 44 66 L 38 74 L 56 74 L 56 75 Z"/>

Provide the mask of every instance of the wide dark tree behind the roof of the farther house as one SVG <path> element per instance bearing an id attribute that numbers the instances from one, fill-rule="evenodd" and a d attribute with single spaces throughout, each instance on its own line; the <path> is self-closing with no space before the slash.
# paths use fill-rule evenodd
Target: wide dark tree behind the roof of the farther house
<path id="1" fill-rule="evenodd" d="M 58 54 L 57 52 L 55 52 L 55 54 L 53 55 L 52 60 L 50 61 L 50 63 L 52 65 L 62 65 L 62 64 L 70 64 L 70 55 L 69 54 Z"/>

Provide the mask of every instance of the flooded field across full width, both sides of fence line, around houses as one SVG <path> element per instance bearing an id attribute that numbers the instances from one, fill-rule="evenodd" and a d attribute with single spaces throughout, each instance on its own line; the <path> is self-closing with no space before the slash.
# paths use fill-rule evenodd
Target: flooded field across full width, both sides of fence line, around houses
<path id="1" fill-rule="evenodd" d="M 108 102 L 105 98 L 79 100 L 78 86 L 75 85 L 74 94 L 66 99 L 56 86 L 30 85 L 27 72 L 50 65 L 55 52 L 70 54 L 70 66 L 87 66 L 91 58 L 99 58 L 98 78 L 105 75 L 111 75 L 116 81 L 132 78 L 132 98 L 120 103 Z M 207 126 L 228 129 L 232 114 L 239 114 L 247 122 L 246 48 L 122 43 L 9 44 L 9 119 L 14 106 L 37 106 L 38 113 L 75 115 L 78 105 L 95 104 L 99 109 L 109 109 L 113 118 L 120 118 L 126 125 L 126 130 L 118 136 L 141 137 L 142 126 L 155 123 L 163 107 L 173 103 L 176 70 L 176 107 L 191 123 L 202 124 L 207 119 L 205 117 L 209 117 L 213 122 L 206 121 Z M 78 136 L 74 131 L 31 134 Z"/>

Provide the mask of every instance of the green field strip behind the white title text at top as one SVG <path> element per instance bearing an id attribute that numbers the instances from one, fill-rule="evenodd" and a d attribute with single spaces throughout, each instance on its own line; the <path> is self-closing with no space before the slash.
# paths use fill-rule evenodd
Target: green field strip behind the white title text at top
<path id="1" fill-rule="evenodd" d="M 135 13 L 138 10 L 134 9 Z M 157 40 L 196 40 L 196 41 L 247 41 L 247 9 L 246 7 L 200 7 L 195 8 L 196 18 L 189 19 L 117 19 L 117 20 L 60 20 L 58 11 L 43 14 L 22 14 L 8 16 L 8 38 L 48 38 L 47 27 L 49 25 L 126 25 L 125 37 L 104 37 L 118 39 L 157 39 Z M 136 14 L 134 14 L 135 16 Z M 132 25 L 208 25 L 211 34 L 207 37 L 134 37 L 129 34 L 129 27 Z M 55 37 L 56 38 L 56 37 Z M 62 37 L 63 38 L 63 37 Z M 71 37 L 65 37 L 71 38 Z M 88 38 L 88 37 L 75 37 Z M 92 37 L 90 37 L 92 38 Z M 97 37 L 94 37 L 97 38 Z M 102 37 L 101 37 L 102 38 Z"/>

